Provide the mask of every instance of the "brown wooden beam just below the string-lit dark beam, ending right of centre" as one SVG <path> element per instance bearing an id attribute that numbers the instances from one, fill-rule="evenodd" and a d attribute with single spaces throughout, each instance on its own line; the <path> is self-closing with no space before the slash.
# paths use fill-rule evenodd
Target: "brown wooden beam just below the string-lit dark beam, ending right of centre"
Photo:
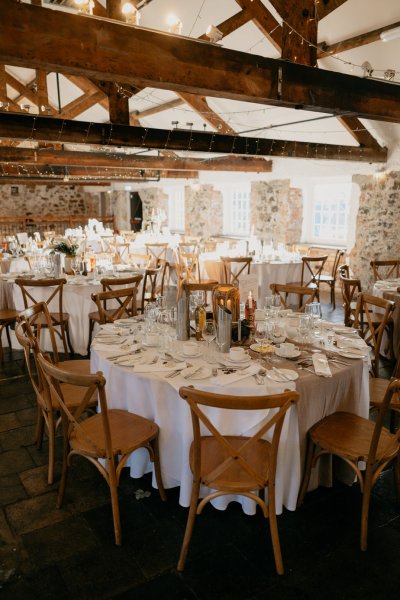
<path id="1" fill-rule="evenodd" d="M 1 163 L 20 165 L 61 165 L 66 167 L 129 167 L 138 169 L 161 169 L 164 171 L 235 171 L 269 173 L 272 161 L 251 156 L 223 156 L 210 159 L 181 158 L 179 156 L 143 156 L 122 152 L 77 152 L 47 148 L 0 148 Z"/>

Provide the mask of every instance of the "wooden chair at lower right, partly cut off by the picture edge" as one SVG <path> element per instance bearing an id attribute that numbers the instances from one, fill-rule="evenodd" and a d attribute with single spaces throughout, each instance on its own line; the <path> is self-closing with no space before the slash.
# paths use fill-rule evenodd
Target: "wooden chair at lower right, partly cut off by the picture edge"
<path id="1" fill-rule="evenodd" d="M 311 469 L 323 455 L 343 459 L 354 471 L 362 494 L 361 550 L 367 549 L 368 514 L 371 491 L 379 475 L 394 463 L 397 494 L 400 498 L 400 429 L 390 433 L 384 422 L 394 394 L 400 392 L 400 380 L 394 379 L 385 394 L 376 422 L 348 412 L 333 413 L 318 421 L 308 432 L 308 451 L 298 505 L 308 489 Z M 366 463 L 362 471 L 359 462 Z"/>

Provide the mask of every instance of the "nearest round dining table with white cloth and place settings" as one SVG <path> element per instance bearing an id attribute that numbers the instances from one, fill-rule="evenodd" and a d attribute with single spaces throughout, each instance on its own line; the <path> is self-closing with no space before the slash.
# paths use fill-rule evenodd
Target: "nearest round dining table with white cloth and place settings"
<path id="1" fill-rule="evenodd" d="M 107 333 L 106 335 L 109 335 Z M 124 336 L 125 337 L 125 336 Z M 189 506 L 192 486 L 192 474 L 189 467 L 189 449 L 193 440 L 190 410 L 179 395 L 179 388 L 194 385 L 198 389 L 213 393 L 232 395 L 272 394 L 284 389 L 296 389 L 300 393 L 297 405 L 291 407 L 286 415 L 282 430 L 278 453 L 276 477 L 276 510 L 280 514 L 283 507 L 296 509 L 297 496 L 301 483 L 303 462 L 306 450 L 306 434 L 308 429 L 319 419 L 335 411 L 345 410 L 368 417 L 369 386 L 368 361 L 366 359 L 341 359 L 340 363 L 331 363 L 331 377 L 321 377 L 308 370 L 298 369 L 293 361 L 282 359 L 279 367 L 295 371 L 295 381 L 273 381 L 265 379 L 258 385 L 255 375 L 259 370 L 257 359 L 252 359 L 248 371 L 224 374 L 221 371 L 215 376 L 210 367 L 224 362 L 224 355 L 217 353 L 214 364 L 204 359 L 204 342 L 198 344 L 201 355 L 185 358 L 182 354 L 183 342 L 175 342 L 174 356 L 192 366 L 201 367 L 201 379 L 195 376 L 185 378 L 186 371 L 179 370 L 182 364 L 163 365 L 163 354 L 154 348 L 139 348 L 139 352 L 129 355 L 126 345 L 109 344 L 102 340 L 100 332 L 92 344 L 91 370 L 103 372 L 107 384 L 106 392 L 110 408 L 128 410 L 155 421 L 160 427 L 161 471 L 166 488 L 179 486 L 179 503 Z M 118 342 L 118 338 L 116 338 Z M 126 343 L 126 340 L 125 340 Z M 135 348 L 135 347 L 134 347 Z M 146 356 L 158 357 L 156 364 L 147 364 Z M 226 355 L 225 355 L 226 356 Z M 143 358 L 140 358 L 143 357 Z M 161 358 L 160 358 L 161 357 Z M 165 356 L 164 356 L 165 358 Z M 131 362 L 130 362 L 131 361 Z M 123 362 L 124 364 L 117 364 Z M 151 362 L 151 361 L 150 361 Z M 143 366 L 142 366 L 143 365 Z M 273 373 L 273 371 L 268 371 Z M 176 376 L 171 376 L 176 374 Z M 279 378 L 280 379 L 280 378 Z M 252 434 L 252 430 L 266 417 L 265 411 L 233 411 L 213 410 L 216 425 L 223 433 L 232 435 Z M 132 477 L 141 477 L 152 470 L 146 452 L 133 453 L 127 462 Z M 348 477 L 348 473 L 346 474 Z M 352 481 L 351 478 L 350 481 Z M 310 489 L 319 484 L 331 485 L 332 468 L 328 457 L 322 460 L 313 473 Z M 153 486 L 156 487 L 154 473 Z M 203 489 L 203 493 L 206 490 Z M 223 510 L 229 501 L 242 504 L 243 510 L 253 514 L 255 504 L 243 497 L 220 497 L 213 504 Z"/>

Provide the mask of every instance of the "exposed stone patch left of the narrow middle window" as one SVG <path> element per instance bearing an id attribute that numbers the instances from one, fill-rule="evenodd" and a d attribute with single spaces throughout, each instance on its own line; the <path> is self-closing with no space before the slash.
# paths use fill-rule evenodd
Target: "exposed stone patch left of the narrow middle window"
<path id="1" fill-rule="evenodd" d="M 223 199 L 212 185 L 185 187 L 185 233 L 204 240 L 222 233 Z"/>

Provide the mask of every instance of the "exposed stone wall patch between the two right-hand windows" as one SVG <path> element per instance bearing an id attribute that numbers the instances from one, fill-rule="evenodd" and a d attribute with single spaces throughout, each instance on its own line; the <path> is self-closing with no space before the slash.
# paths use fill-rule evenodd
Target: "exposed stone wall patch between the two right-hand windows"
<path id="1" fill-rule="evenodd" d="M 254 234 L 275 244 L 295 244 L 301 238 L 303 200 L 301 190 L 289 179 L 251 184 L 250 224 Z"/>

